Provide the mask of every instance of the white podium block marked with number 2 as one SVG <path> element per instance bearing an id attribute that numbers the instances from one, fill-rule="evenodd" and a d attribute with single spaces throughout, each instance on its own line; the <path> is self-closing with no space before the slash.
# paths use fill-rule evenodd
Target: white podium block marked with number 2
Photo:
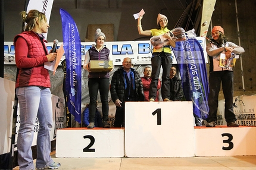
<path id="1" fill-rule="evenodd" d="M 119 158 L 123 156 L 123 128 L 57 130 L 57 158 Z"/>

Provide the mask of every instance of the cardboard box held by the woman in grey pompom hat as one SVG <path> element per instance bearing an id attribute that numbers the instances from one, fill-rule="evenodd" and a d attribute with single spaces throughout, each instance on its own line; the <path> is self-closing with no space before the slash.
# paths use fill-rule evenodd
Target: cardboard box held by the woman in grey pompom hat
<path id="1" fill-rule="evenodd" d="M 91 60 L 90 71 L 92 72 L 108 72 L 113 68 L 113 61 Z"/>

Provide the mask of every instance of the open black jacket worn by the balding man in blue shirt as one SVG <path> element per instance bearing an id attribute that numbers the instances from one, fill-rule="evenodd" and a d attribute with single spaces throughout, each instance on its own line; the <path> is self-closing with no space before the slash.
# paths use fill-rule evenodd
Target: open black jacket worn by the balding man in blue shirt
<path id="1" fill-rule="evenodd" d="M 135 90 L 136 96 L 135 101 L 144 101 L 144 94 L 143 94 L 143 86 L 141 83 L 141 77 L 134 68 L 130 68 L 135 75 Z M 125 84 L 124 84 L 124 75 L 123 75 L 123 67 L 119 68 L 113 74 L 111 85 L 110 85 L 110 93 L 113 102 L 119 99 L 121 102 L 124 102 L 125 98 Z"/>

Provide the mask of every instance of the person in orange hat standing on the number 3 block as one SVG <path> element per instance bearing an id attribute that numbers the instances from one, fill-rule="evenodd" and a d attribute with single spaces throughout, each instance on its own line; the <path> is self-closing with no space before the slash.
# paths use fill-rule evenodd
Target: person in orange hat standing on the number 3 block
<path id="1" fill-rule="evenodd" d="M 217 121 L 218 109 L 218 93 L 220 92 L 220 83 L 222 83 L 222 90 L 225 98 L 224 115 L 228 127 L 238 127 L 236 123 L 236 115 L 233 111 L 233 81 L 234 74 L 232 67 L 226 69 L 219 66 L 220 55 L 226 55 L 230 58 L 232 53 L 240 55 L 245 50 L 229 42 L 224 35 L 224 29 L 221 26 L 214 26 L 211 31 L 213 37 L 207 44 L 207 54 L 210 59 L 210 93 L 208 96 L 209 115 L 207 117 L 206 127 L 215 127 Z"/>

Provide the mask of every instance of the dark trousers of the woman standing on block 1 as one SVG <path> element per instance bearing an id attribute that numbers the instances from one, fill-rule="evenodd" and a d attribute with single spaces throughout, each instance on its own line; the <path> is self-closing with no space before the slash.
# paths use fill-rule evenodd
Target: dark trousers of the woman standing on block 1
<path id="1" fill-rule="evenodd" d="M 152 75 L 151 83 L 149 87 L 149 97 L 148 99 L 155 99 L 157 97 L 157 84 L 160 75 L 160 68 L 162 65 L 163 75 L 161 84 L 161 95 L 163 99 L 170 99 L 170 68 L 171 68 L 171 53 L 164 52 L 154 52 L 152 53 L 151 65 L 152 65 Z"/>

